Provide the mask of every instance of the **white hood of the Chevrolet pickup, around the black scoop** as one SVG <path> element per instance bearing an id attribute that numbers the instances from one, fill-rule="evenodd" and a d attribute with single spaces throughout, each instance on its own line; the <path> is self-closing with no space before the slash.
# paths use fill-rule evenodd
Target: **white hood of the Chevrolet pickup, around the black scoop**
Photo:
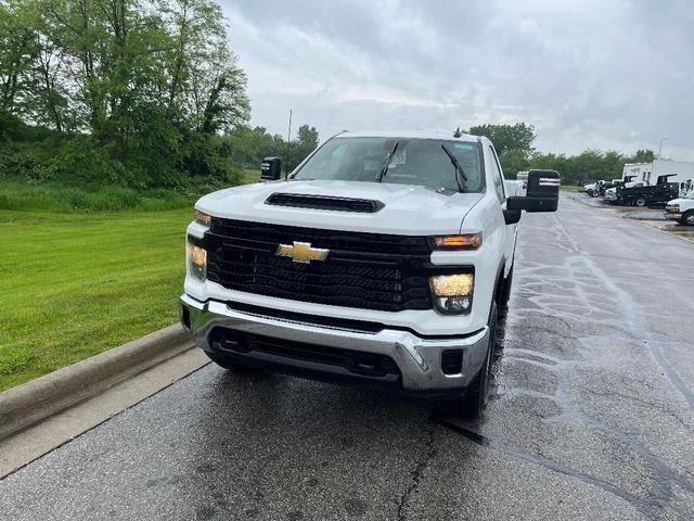
<path id="1" fill-rule="evenodd" d="M 375 213 L 336 212 L 266 204 L 273 193 L 381 201 Z M 361 181 L 274 181 L 229 188 L 195 207 L 216 217 L 332 230 L 423 236 L 459 233 L 463 218 L 484 193 L 447 195 L 424 187 Z"/>

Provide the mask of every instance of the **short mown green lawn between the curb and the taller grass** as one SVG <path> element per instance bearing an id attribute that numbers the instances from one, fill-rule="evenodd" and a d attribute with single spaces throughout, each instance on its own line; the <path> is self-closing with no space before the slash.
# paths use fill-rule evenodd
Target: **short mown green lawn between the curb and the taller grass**
<path id="1" fill-rule="evenodd" d="M 175 323 L 191 220 L 0 211 L 0 391 Z"/>

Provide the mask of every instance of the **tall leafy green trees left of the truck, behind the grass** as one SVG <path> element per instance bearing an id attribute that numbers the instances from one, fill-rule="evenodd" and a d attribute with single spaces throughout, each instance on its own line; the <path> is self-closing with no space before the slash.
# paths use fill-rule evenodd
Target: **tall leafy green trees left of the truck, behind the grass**
<path id="1" fill-rule="evenodd" d="M 249 114 L 211 0 L 0 0 L 0 176 L 234 183 L 287 151 Z M 317 144 L 303 126 L 288 150 Z"/>

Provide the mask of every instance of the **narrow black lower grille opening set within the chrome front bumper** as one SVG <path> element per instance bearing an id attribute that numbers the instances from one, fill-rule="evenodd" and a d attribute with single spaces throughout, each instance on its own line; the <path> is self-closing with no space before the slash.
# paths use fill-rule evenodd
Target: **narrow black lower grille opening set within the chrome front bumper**
<path id="1" fill-rule="evenodd" d="M 214 350 L 222 353 L 232 352 L 242 355 L 265 353 L 284 358 L 339 366 L 356 374 L 368 377 L 400 374 L 397 364 L 386 355 L 274 339 L 233 329 L 215 328 L 209 333 L 209 343 Z"/>

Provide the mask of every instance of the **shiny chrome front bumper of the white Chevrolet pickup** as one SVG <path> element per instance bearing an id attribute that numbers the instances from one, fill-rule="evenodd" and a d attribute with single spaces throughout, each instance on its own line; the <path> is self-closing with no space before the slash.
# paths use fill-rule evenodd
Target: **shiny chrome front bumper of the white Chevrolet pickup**
<path id="1" fill-rule="evenodd" d="M 180 305 L 181 321 L 193 340 L 203 350 L 218 356 L 231 356 L 235 360 L 266 366 L 273 370 L 286 368 L 287 372 L 305 373 L 327 380 L 351 379 L 378 384 L 385 379 L 402 391 L 423 394 L 459 391 L 467 385 L 481 367 L 489 342 L 487 327 L 467 335 L 426 339 L 411 331 L 387 327 L 374 332 L 264 316 L 232 309 L 223 302 L 200 302 L 187 294 L 181 296 Z M 354 373 L 349 368 L 340 365 L 280 356 L 272 352 L 252 350 L 242 353 L 224 353 L 218 343 L 210 341 L 213 330 L 260 335 L 266 339 L 275 339 L 278 343 L 310 344 L 326 346 L 331 350 L 385 355 L 395 361 L 399 374 L 395 380 L 393 374 L 369 377 L 363 373 Z M 447 374 L 441 368 L 444 352 L 451 350 L 462 352 L 461 371 L 455 374 Z"/>

